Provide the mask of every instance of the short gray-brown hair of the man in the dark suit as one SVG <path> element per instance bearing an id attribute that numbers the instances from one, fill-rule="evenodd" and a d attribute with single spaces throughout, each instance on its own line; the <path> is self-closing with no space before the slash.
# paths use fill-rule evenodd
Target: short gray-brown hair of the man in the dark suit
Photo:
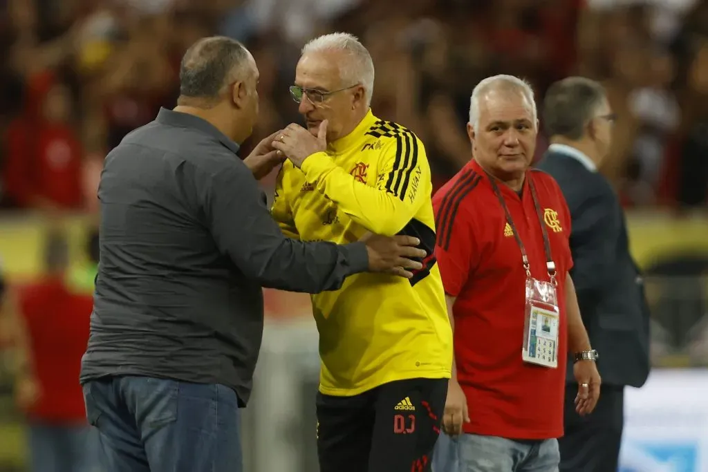
<path id="1" fill-rule="evenodd" d="M 585 77 L 569 77 L 552 84 L 543 102 L 543 123 L 549 137 L 581 139 L 585 127 L 605 100 L 605 89 Z"/>

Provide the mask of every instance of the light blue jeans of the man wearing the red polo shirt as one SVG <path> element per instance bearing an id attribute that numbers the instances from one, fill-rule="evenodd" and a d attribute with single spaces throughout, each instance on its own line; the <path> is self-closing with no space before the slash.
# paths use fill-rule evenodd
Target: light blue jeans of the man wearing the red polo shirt
<path id="1" fill-rule="evenodd" d="M 558 472 L 557 439 L 519 441 L 496 436 L 440 433 L 433 472 Z"/>

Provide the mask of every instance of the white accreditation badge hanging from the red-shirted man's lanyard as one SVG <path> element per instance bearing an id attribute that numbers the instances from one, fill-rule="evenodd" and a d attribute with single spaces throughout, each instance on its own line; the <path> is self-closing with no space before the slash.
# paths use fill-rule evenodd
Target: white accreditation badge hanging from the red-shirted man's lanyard
<path id="1" fill-rule="evenodd" d="M 524 339 L 521 349 L 524 362 L 550 369 L 558 367 L 560 324 L 556 284 L 527 277 Z"/>

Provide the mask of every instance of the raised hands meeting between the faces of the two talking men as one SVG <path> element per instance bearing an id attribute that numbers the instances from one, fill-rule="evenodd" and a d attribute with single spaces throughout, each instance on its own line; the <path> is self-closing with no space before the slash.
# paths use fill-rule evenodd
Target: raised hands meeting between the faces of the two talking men
<path id="1" fill-rule="evenodd" d="M 317 137 L 295 123 L 280 129 L 256 144 L 244 163 L 256 179 L 268 175 L 285 159 L 290 159 L 297 168 L 308 156 L 327 149 L 327 120 L 319 125 Z"/>

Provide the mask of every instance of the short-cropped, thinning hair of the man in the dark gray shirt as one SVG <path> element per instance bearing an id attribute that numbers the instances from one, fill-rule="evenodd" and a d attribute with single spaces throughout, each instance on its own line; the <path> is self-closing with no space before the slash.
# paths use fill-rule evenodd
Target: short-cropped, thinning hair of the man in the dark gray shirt
<path id="1" fill-rule="evenodd" d="M 253 61 L 240 42 L 224 36 L 195 42 L 182 58 L 179 71 L 181 98 L 215 100 L 224 86 L 241 79 Z"/>

